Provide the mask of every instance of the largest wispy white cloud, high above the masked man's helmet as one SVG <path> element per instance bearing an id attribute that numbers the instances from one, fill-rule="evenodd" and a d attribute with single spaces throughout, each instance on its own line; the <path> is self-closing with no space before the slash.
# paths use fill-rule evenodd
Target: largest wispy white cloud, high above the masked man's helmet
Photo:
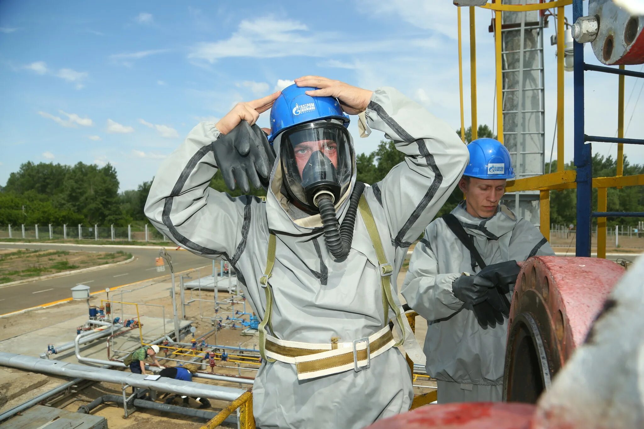
<path id="1" fill-rule="evenodd" d="M 453 7 L 453 6 L 451 6 Z M 392 51 L 409 40 L 347 41 L 346 35 L 333 32 L 313 32 L 291 19 L 272 16 L 243 20 L 228 39 L 202 42 L 193 46 L 188 58 L 213 63 L 229 57 L 279 58 L 328 57 L 330 55 Z"/>

